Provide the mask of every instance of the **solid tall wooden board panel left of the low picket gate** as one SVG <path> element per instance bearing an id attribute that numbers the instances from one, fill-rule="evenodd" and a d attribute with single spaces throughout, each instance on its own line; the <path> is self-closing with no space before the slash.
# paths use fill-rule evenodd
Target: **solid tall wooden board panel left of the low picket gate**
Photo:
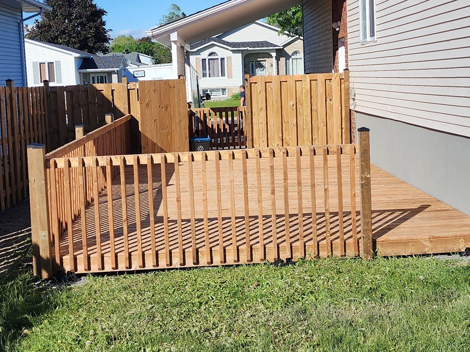
<path id="1" fill-rule="evenodd" d="M 139 82 L 142 153 L 189 151 L 184 79 Z"/>

